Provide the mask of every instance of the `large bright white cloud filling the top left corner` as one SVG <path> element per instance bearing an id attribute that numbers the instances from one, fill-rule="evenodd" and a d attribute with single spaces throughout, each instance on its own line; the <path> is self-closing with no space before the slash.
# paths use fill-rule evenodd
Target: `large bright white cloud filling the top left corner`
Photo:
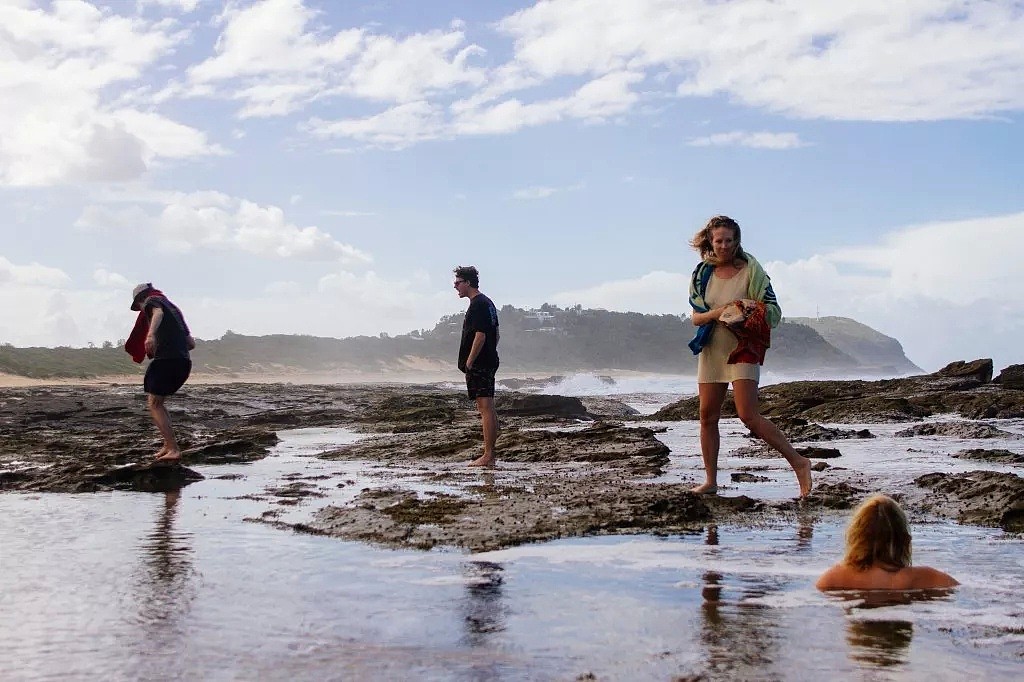
<path id="1" fill-rule="evenodd" d="M 5 3 L 0 26 L 0 185 L 122 181 L 155 159 L 222 152 L 194 128 L 113 104 L 183 40 L 172 23 L 69 1 Z"/>

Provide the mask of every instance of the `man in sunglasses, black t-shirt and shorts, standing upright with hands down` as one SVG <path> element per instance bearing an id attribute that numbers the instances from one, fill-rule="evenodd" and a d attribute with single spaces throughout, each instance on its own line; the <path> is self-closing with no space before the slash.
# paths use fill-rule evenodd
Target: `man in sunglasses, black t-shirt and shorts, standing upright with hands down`
<path id="1" fill-rule="evenodd" d="M 498 309 L 480 293 L 480 273 L 472 265 L 455 268 L 455 290 L 459 298 L 469 299 L 462 323 L 459 345 L 459 369 L 466 373 L 466 390 L 476 400 L 483 427 L 483 455 L 469 463 L 471 467 L 495 465 L 495 441 L 498 440 L 498 415 L 495 413 L 495 374 L 498 372 Z"/>

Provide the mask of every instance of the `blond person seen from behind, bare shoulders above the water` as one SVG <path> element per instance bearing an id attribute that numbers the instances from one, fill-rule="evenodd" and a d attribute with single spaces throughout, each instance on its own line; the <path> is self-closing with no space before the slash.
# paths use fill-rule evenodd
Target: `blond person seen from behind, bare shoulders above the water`
<path id="1" fill-rule="evenodd" d="M 910 525 L 895 500 L 872 495 L 853 513 L 846 554 L 814 584 L 819 590 L 927 590 L 959 583 L 938 568 L 910 565 Z"/>

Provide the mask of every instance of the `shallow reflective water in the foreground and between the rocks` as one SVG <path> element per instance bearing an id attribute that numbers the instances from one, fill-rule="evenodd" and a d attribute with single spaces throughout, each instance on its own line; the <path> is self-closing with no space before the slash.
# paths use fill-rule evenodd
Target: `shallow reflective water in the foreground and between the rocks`
<path id="1" fill-rule="evenodd" d="M 686 428 L 663 434 L 680 452 L 667 476 L 692 469 Z M 997 529 L 916 525 L 918 562 L 964 585 L 882 605 L 813 589 L 842 527 L 799 516 L 476 555 L 384 550 L 243 520 L 267 502 L 238 498 L 290 473 L 351 482 L 286 519 L 380 473 L 310 457 L 355 437 L 343 429 L 282 436 L 263 461 L 200 468 L 207 480 L 180 495 L 0 496 L 0 679 L 959 680 L 1016 679 L 1024 663 L 1024 541 Z M 882 440 L 841 441 L 843 457 L 882 469 Z M 780 467 L 777 485 L 741 492 L 792 495 L 781 460 L 737 462 Z"/>

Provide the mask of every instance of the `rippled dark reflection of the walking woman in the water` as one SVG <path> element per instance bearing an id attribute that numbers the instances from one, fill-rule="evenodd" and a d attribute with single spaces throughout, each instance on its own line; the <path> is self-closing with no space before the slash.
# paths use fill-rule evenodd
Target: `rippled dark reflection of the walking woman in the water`
<path id="1" fill-rule="evenodd" d="M 709 526 L 705 544 L 717 547 L 718 527 Z M 713 550 L 714 551 L 714 550 Z M 700 590 L 700 642 L 708 652 L 708 671 L 713 676 L 761 677 L 776 658 L 779 614 L 763 605 L 766 595 L 779 592 L 770 578 L 739 579 L 727 586 L 725 577 L 705 571 Z M 724 596 L 729 587 L 738 590 L 735 599 Z"/>

